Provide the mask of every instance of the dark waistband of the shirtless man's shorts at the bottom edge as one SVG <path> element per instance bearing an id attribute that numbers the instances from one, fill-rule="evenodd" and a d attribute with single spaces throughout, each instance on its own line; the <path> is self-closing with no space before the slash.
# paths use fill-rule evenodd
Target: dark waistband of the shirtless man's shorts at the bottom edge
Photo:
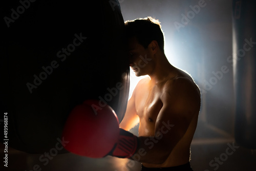
<path id="1" fill-rule="evenodd" d="M 161 168 L 149 168 L 141 165 L 141 171 L 193 171 L 193 169 L 190 166 L 190 163 L 182 164 L 179 166 L 173 166 L 173 167 L 161 167 Z"/>

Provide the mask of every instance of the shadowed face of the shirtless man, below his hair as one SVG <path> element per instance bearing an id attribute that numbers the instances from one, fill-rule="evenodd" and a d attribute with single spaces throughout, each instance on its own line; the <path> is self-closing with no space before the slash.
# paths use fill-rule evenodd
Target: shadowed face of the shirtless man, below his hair
<path id="1" fill-rule="evenodd" d="M 145 49 L 136 37 L 129 39 L 130 67 L 136 76 L 148 75 L 153 69 L 153 56 L 150 50 Z"/>

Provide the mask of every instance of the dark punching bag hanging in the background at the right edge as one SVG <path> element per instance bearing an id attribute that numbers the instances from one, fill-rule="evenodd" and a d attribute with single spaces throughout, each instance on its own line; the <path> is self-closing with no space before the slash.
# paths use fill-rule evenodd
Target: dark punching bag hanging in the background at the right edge
<path id="1" fill-rule="evenodd" d="M 256 1 L 233 1 L 234 135 L 256 149 Z"/>

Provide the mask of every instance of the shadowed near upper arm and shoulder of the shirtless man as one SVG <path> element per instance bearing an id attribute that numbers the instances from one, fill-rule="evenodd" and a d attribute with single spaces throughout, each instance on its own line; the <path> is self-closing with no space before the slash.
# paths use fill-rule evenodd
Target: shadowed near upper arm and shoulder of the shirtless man
<path id="1" fill-rule="evenodd" d="M 194 85 L 187 79 L 179 78 L 167 82 L 163 90 L 163 106 L 156 120 L 155 136 L 162 134 L 162 146 L 168 146 L 170 151 L 184 136 L 192 118 L 199 113 L 200 96 Z M 173 125 L 168 132 L 163 127 L 166 125 Z"/>

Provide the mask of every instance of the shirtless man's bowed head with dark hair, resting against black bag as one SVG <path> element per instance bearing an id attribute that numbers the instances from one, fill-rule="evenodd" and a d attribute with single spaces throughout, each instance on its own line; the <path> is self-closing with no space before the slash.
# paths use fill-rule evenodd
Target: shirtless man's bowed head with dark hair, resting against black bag
<path id="1" fill-rule="evenodd" d="M 136 76 L 154 72 L 157 54 L 164 54 L 164 36 L 160 22 L 152 17 L 125 22 L 129 40 L 130 66 Z"/>

